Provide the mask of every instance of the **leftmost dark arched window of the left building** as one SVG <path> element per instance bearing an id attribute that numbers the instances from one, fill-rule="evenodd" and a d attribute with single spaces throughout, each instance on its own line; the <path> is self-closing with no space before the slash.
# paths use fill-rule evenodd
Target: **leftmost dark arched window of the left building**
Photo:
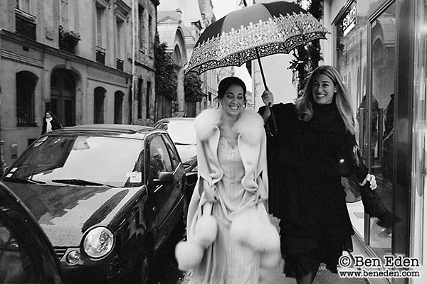
<path id="1" fill-rule="evenodd" d="M 17 126 L 36 126 L 34 120 L 34 89 L 38 77 L 31 72 L 16 73 L 16 122 Z"/>

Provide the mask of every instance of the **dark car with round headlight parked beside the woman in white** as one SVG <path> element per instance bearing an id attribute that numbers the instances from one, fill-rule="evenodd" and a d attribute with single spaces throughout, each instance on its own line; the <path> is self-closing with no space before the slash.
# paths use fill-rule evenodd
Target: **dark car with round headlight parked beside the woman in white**
<path id="1" fill-rule="evenodd" d="M 150 258 L 184 216 L 184 166 L 168 133 L 148 126 L 45 133 L 2 180 L 34 214 L 63 280 L 73 283 L 147 283 Z"/>

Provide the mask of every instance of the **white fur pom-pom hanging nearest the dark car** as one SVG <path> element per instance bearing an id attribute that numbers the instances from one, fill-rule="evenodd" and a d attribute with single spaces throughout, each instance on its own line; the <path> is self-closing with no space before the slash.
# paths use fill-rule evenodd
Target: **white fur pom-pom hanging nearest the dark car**
<path id="1" fill-rule="evenodd" d="M 204 249 L 196 241 L 180 241 L 175 247 L 175 258 L 180 271 L 191 271 L 203 258 Z"/>

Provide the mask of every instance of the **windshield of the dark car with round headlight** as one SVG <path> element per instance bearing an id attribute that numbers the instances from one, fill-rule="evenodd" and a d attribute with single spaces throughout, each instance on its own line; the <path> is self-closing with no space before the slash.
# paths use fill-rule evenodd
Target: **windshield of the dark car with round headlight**
<path id="1" fill-rule="evenodd" d="M 144 141 L 129 138 L 43 136 L 23 153 L 6 178 L 34 183 L 137 186 L 128 179 L 135 172 L 143 172 L 143 148 Z"/>

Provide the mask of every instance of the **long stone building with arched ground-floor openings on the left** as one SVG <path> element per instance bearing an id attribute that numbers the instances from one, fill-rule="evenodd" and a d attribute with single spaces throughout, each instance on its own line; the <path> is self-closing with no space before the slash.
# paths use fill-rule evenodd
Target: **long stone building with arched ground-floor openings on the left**
<path id="1" fill-rule="evenodd" d="M 41 134 L 47 110 L 63 126 L 154 122 L 158 4 L 0 1 L 0 140 L 6 165 Z"/>

